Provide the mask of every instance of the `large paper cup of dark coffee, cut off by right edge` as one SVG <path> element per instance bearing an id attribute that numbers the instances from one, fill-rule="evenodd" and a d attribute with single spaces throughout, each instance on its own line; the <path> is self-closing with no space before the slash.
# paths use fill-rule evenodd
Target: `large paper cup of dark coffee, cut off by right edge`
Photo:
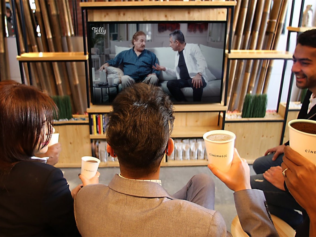
<path id="1" fill-rule="evenodd" d="M 290 147 L 316 165 L 316 121 L 289 121 Z"/>

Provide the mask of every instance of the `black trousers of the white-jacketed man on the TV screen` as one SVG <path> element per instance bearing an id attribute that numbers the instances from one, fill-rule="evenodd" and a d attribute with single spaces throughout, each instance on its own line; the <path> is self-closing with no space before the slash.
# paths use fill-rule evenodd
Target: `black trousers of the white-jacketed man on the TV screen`
<path id="1" fill-rule="evenodd" d="M 203 85 L 200 88 L 193 87 L 192 78 L 176 79 L 167 82 L 167 88 L 177 101 L 186 101 L 184 94 L 180 90 L 181 88 L 191 87 L 193 89 L 193 101 L 201 101 L 203 88 L 206 87 L 206 82 L 202 76 Z"/>

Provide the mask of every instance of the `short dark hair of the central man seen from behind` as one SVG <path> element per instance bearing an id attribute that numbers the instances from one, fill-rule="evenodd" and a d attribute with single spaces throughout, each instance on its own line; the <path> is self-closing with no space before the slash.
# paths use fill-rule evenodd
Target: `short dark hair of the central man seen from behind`
<path id="1" fill-rule="evenodd" d="M 161 87 L 137 83 L 117 95 L 106 140 L 137 176 L 157 171 L 173 129 L 173 105 Z"/>

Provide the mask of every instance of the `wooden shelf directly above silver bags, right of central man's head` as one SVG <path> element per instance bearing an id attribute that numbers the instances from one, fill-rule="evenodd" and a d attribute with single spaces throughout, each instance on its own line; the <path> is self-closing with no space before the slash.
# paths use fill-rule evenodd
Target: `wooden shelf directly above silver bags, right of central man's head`
<path id="1" fill-rule="evenodd" d="M 219 126 L 173 127 L 171 137 L 203 137 L 203 134 L 207 131 L 220 129 Z"/>

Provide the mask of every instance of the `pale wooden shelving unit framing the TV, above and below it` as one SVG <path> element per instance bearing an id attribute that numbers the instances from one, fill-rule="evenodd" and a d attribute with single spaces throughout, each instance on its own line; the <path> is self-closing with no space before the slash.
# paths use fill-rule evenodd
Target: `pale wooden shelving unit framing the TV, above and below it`
<path id="1" fill-rule="evenodd" d="M 164 1 L 164 2 L 82 2 L 80 6 L 85 11 L 88 22 L 128 22 L 128 21 L 226 21 L 228 9 L 233 9 L 236 1 Z M 232 13 L 233 11 L 231 11 Z M 233 15 L 230 18 L 232 25 Z M 230 31 L 232 32 L 232 30 Z M 229 37 L 231 40 L 231 35 Z M 229 42 L 230 45 L 230 42 Z M 230 49 L 229 49 L 230 50 Z M 225 94 L 225 88 L 222 88 Z M 222 96 L 226 97 L 226 94 Z M 91 114 L 111 112 L 112 107 L 106 105 L 90 105 L 87 109 Z M 202 138 L 206 131 L 224 128 L 224 119 L 219 114 L 225 114 L 225 100 L 213 104 L 174 105 L 175 122 L 173 138 Z M 91 118 L 90 118 L 91 124 Z M 91 134 L 90 139 L 105 139 L 105 134 Z M 207 160 L 183 160 L 161 163 L 161 166 L 192 166 L 207 165 Z M 101 162 L 100 167 L 119 166 L 118 162 Z"/>

